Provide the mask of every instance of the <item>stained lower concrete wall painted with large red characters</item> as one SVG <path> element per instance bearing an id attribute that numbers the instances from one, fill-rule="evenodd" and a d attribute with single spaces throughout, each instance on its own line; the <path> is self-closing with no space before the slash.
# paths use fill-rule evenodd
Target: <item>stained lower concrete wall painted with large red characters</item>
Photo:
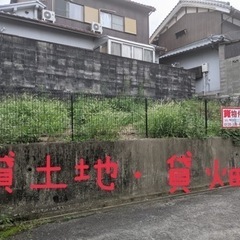
<path id="1" fill-rule="evenodd" d="M 190 191 L 210 186 L 212 178 L 205 174 L 205 170 L 213 167 L 214 160 L 219 160 L 221 170 L 237 167 L 240 161 L 240 147 L 220 138 L 9 145 L 1 147 L 1 161 L 10 150 L 15 153 L 13 182 L 9 185 L 12 193 L 0 185 L 0 211 L 34 218 L 114 205 L 143 195 L 167 193 L 171 189 L 167 160 L 187 151 L 192 153 Z M 46 166 L 46 154 L 51 156 L 52 167 L 61 167 L 60 171 L 50 174 L 51 182 L 66 184 L 66 188 L 31 189 L 32 184 L 46 182 L 46 173 L 36 171 L 37 167 Z M 105 174 L 101 178 L 103 184 L 114 184 L 113 191 L 101 190 L 96 182 L 98 175 L 94 166 L 99 158 L 104 160 L 106 155 L 118 164 L 116 178 L 113 175 L 111 178 L 104 169 Z M 90 167 L 85 170 L 85 175 L 90 176 L 86 181 L 75 181 L 78 176 L 75 166 L 80 158 L 85 159 Z M 0 164 L 0 169 L 6 170 L 6 164 Z M 175 164 L 174 168 L 177 167 L 185 166 Z M 140 178 L 134 177 L 136 171 L 141 172 Z M 220 175 L 220 178 L 228 182 L 228 176 Z"/>

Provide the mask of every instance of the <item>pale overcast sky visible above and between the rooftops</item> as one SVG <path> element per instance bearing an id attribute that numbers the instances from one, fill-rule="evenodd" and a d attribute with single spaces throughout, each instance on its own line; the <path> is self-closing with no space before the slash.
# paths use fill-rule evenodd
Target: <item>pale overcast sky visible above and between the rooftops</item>
<path id="1" fill-rule="evenodd" d="M 150 5 L 156 8 L 156 11 L 150 16 L 150 34 L 158 27 L 169 12 L 176 6 L 178 0 L 134 0 L 142 4 Z M 224 1 L 224 0 L 223 0 Z M 0 0 L 0 5 L 8 4 L 10 0 Z M 240 10 L 240 0 L 226 0 L 231 6 Z"/>

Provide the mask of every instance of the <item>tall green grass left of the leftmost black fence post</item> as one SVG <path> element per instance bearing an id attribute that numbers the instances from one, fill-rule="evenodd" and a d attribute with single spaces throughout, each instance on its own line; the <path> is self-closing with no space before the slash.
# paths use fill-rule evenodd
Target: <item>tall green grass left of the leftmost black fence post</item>
<path id="1" fill-rule="evenodd" d="M 0 101 L 0 142 L 37 142 L 41 136 L 63 134 L 69 127 L 63 102 L 23 94 Z"/>

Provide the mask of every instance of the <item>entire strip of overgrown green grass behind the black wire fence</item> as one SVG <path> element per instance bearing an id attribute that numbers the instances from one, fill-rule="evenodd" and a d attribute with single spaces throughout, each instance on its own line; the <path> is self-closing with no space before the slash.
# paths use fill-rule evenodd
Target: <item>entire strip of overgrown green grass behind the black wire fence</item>
<path id="1" fill-rule="evenodd" d="M 204 101 L 156 101 L 131 97 L 79 96 L 73 102 L 23 94 L 0 100 L 0 143 L 37 142 L 42 137 L 71 139 L 71 122 L 75 141 L 123 139 L 121 134 L 134 129 L 136 138 L 179 137 L 202 139 L 222 136 L 240 141 L 239 130 L 221 129 L 218 101 L 208 102 L 208 129 L 205 129 Z"/>

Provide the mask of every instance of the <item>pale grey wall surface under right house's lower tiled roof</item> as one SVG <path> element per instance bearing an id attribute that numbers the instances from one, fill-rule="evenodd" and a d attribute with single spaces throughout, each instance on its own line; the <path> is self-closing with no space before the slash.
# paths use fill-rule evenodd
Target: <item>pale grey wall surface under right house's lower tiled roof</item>
<path id="1" fill-rule="evenodd" d="M 206 88 L 207 92 L 220 92 L 219 55 L 217 49 L 212 49 L 211 47 L 199 49 L 189 53 L 183 53 L 179 56 L 170 57 L 167 60 L 163 59 L 160 62 L 166 64 L 178 62 L 179 67 L 183 67 L 184 69 L 191 69 L 199 67 L 203 63 L 208 63 L 208 79 L 210 80 L 210 85 Z M 197 79 L 195 84 L 196 93 L 202 93 L 204 89 L 204 79 Z"/>

